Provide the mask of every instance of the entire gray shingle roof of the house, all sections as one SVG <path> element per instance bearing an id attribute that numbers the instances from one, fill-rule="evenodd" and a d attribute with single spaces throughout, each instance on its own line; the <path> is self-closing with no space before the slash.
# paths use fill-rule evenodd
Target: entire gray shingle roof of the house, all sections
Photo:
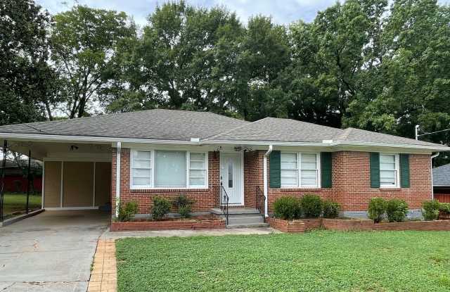
<path id="1" fill-rule="evenodd" d="M 183 141 L 200 138 L 206 143 L 208 141 L 322 143 L 323 140 L 333 140 L 389 144 L 391 146 L 392 144 L 406 144 L 425 146 L 425 148 L 426 146 L 430 146 L 430 148 L 439 146 L 440 151 L 446 150 L 445 146 L 439 144 L 361 129 L 338 129 L 279 118 L 245 122 L 214 113 L 162 109 L 98 115 L 73 120 L 7 125 L 0 127 L 0 133 Z"/>

